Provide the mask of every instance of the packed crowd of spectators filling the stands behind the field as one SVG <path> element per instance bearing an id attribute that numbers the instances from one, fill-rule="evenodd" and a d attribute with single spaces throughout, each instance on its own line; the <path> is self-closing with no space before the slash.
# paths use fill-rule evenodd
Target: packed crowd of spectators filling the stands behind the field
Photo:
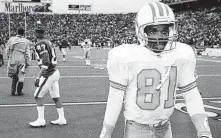
<path id="1" fill-rule="evenodd" d="M 178 40 L 190 45 L 220 45 L 221 7 L 177 12 Z M 26 14 L 26 25 L 25 25 Z M 136 43 L 134 28 L 135 13 L 128 14 L 28 14 L 13 13 L 10 17 L 0 13 L 1 38 L 6 42 L 16 28 L 27 28 L 26 36 L 33 39 L 33 28 L 41 21 L 47 37 L 56 44 L 64 38 L 71 45 L 90 38 L 96 45 Z M 10 20 L 10 27 L 9 27 Z"/>

